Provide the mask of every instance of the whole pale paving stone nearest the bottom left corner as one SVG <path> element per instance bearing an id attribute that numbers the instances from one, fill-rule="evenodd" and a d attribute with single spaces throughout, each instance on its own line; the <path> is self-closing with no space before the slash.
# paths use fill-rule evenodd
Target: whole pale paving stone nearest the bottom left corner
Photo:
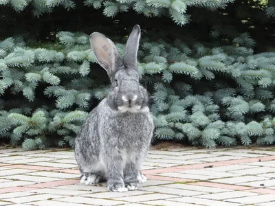
<path id="1" fill-rule="evenodd" d="M 23 196 L 17 198 L 5 198 L 5 201 L 10 201 L 12 203 L 30 203 L 34 201 L 44 201 L 49 198 L 63 198 L 63 196 L 55 195 L 55 194 L 37 194 L 32 196 Z"/>

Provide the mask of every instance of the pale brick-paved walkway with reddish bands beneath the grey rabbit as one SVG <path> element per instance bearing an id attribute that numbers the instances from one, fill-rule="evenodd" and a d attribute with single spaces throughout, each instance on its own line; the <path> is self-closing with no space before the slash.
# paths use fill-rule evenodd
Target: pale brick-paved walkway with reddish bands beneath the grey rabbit
<path id="1" fill-rule="evenodd" d="M 131 192 L 79 183 L 72 150 L 0 150 L 0 205 L 275 205 L 275 148 L 150 150 Z"/>

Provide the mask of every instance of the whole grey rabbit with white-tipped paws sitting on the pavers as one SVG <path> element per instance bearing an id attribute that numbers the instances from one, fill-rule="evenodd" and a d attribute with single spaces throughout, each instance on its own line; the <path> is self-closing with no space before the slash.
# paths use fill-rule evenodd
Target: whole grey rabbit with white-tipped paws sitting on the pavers
<path id="1" fill-rule="evenodd" d="M 94 32 L 89 41 L 98 63 L 109 75 L 111 89 L 88 115 L 75 139 L 80 183 L 107 181 L 113 192 L 136 190 L 138 183 L 146 182 L 140 169 L 154 129 L 148 93 L 137 73 L 140 26 L 133 27 L 124 58 L 103 34 Z"/>

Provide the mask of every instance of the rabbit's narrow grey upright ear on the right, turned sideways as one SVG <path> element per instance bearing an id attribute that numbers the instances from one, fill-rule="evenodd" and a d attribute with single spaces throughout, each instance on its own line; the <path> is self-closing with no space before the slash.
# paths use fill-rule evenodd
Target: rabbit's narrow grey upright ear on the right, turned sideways
<path id="1" fill-rule="evenodd" d="M 137 69 L 137 50 L 140 43 L 140 26 L 135 25 L 126 43 L 124 65 Z"/>

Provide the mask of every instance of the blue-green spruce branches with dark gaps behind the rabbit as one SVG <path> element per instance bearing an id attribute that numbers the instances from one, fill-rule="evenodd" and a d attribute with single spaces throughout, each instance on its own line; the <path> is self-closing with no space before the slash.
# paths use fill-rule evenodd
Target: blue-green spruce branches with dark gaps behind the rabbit
<path id="1" fill-rule="evenodd" d="M 142 84 L 154 140 L 274 144 L 275 1 L 0 1 L 0 137 L 35 149 L 74 146 L 109 80 L 89 34 L 123 55 L 142 27 Z"/>

